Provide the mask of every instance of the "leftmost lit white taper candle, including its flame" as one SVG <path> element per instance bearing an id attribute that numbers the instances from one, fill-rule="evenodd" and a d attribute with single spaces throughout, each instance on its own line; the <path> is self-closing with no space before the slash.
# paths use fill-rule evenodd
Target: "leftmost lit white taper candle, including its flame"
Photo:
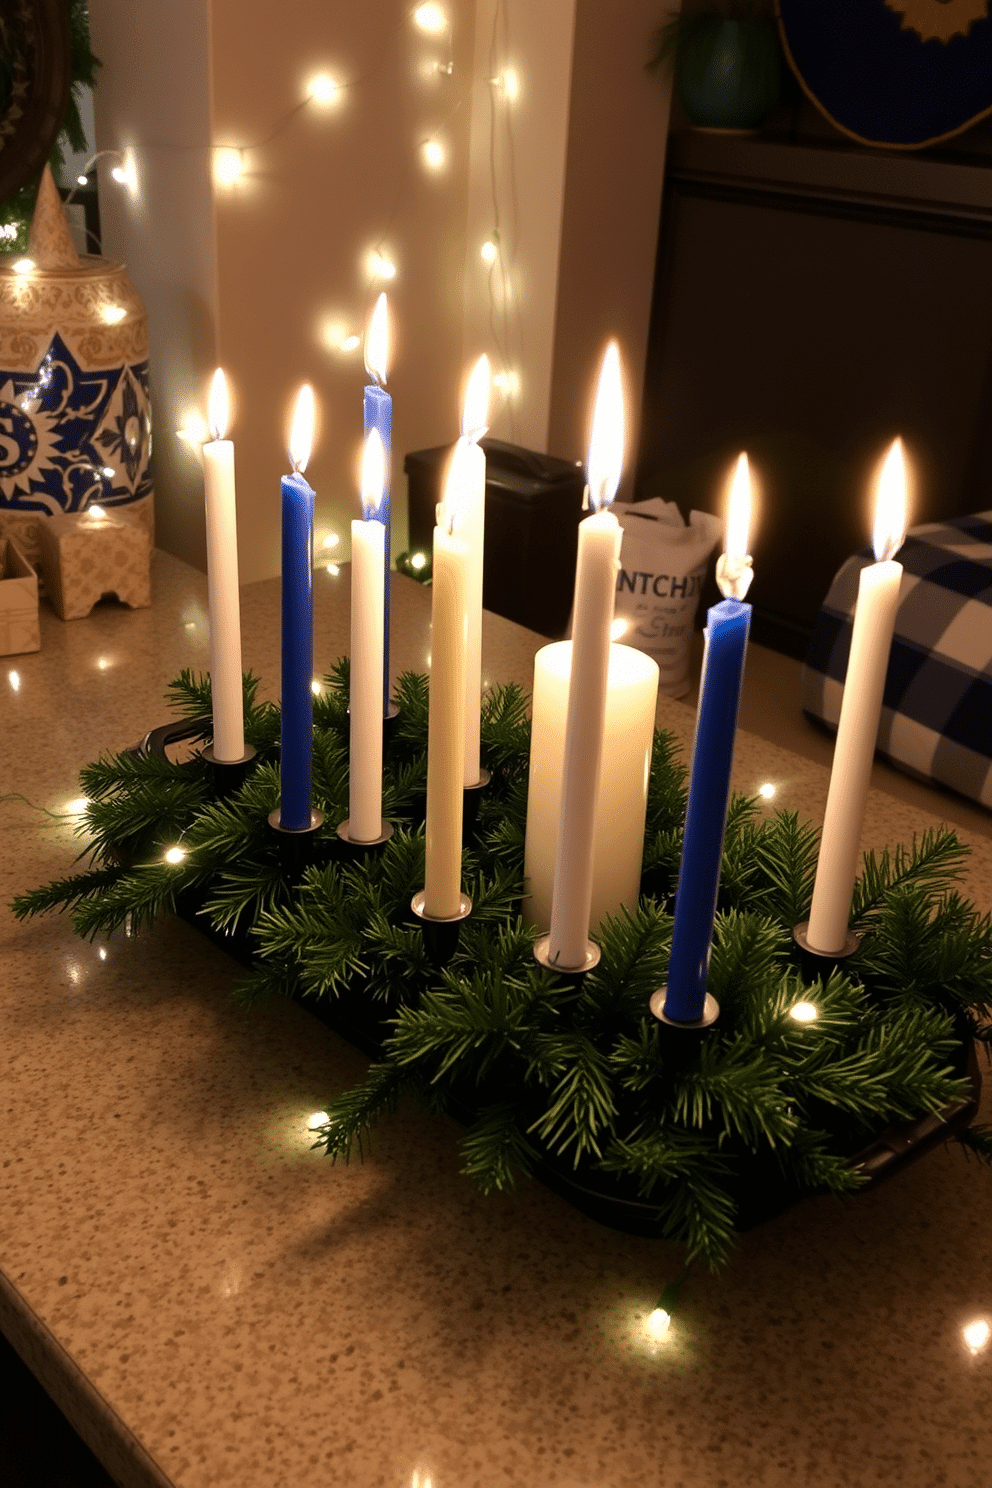
<path id="1" fill-rule="evenodd" d="M 233 443 L 228 430 L 228 384 L 217 368 L 210 387 L 208 424 L 214 436 L 204 445 L 207 506 L 207 592 L 210 606 L 210 690 L 214 713 L 214 754 L 244 756 L 241 693 L 241 600 L 238 592 L 238 507 Z"/>

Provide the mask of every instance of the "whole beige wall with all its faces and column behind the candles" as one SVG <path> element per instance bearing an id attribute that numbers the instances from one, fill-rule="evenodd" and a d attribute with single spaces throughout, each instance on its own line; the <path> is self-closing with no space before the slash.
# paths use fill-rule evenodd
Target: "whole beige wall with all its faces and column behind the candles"
<path id="1" fill-rule="evenodd" d="M 321 409 L 308 470 L 318 537 L 339 531 L 347 557 L 364 369 L 360 351 L 329 347 L 326 327 L 364 327 L 376 240 L 399 269 L 390 391 L 394 551 L 403 546 L 403 454 L 455 437 L 468 359 L 500 350 L 477 272 L 492 225 L 494 4 L 446 0 L 449 77 L 430 65 L 448 60 L 448 40 L 410 24 L 409 0 L 280 0 L 277 10 L 92 0 L 104 58 L 97 143 L 132 144 L 138 167 L 138 201 L 104 177 L 101 207 L 107 248 L 129 262 L 149 305 L 162 546 L 202 564 L 202 482 L 175 429 L 202 409 L 220 360 L 236 396 L 242 580 L 278 571 L 278 478 L 303 381 Z M 512 421 L 497 405 L 494 432 L 573 458 L 584 454 L 608 333 L 620 335 L 640 403 L 668 113 L 642 68 L 656 24 L 654 0 L 503 3 L 500 55 L 521 76 L 512 113 L 501 104 L 495 115 L 521 402 Z M 321 70 L 355 85 L 335 107 L 293 113 Z M 448 149 L 436 174 L 418 156 L 434 132 Z M 231 189 L 211 182 L 211 140 L 247 146 Z"/>

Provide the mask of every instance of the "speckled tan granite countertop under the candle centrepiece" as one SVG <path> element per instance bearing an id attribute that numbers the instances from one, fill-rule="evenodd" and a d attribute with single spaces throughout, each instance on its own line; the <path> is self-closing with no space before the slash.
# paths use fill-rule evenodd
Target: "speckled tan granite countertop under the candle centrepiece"
<path id="1" fill-rule="evenodd" d="M 317 670 L 347 649 L 347 582 L 317 576 Z M 428 594 L 394 585 L 396 670 L 422 667 Z M 272 695 L 277 583 L 244 591 L 244 634 Z M 485 644 L 489 677 L 528 682 L 535 637 L 486 618 Z M 64 809 L 80 765 L 168 719 L 183 665 L 207 667 L 205 582 L 175 559 L 152 610 L 45 615 L 42 652 L 0 664 L 1 792 Z M 687 708 L 659 716 L 690 740 Z M 821 766 L 742 735 L 736 783 L 761 780 L 822 812 Z M 674 1251 L 538 1184 L 483 1199 L 415 1112 L 332 1168 L 306 1117 L 361 1056 L 293 1004 L 238 1012 L 236 969 L 181 923 L 94 945 L 16 924 L 73 838 L 16 799 L 0 824 L 0 1326 L 122 1484 L 992 1481 L 992 1347 L 961 1336 L 992 1318 L 991 1173 L 938 1150 L 800 1205 L 695 1277 L 651 1353 Z M 925 824 L 875 793 L 866 841 Z M 968 888 L 989 908 L 988 839 Z"/>

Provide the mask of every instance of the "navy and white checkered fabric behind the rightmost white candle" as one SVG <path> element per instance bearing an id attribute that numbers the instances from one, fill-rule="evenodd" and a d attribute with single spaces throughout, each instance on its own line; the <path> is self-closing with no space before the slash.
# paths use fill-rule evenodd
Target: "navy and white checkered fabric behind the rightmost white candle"
<path id="1" fill-rule="evenodd" d="M 866 549 L 834 577 L 803 668 L 803 710 L 837 726 Z M 992 808 L 992 512 L 913 527 L 877 753 Z"/>

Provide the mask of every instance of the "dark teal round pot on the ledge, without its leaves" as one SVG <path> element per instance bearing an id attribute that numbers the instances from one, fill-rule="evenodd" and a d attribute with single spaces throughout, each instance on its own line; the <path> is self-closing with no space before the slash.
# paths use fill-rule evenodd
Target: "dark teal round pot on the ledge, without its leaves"
<path id="1" fill-rule="evenodd" d="M 675 86 L 693 124 L 754 129 L 778 103 L 782 52 L 766 19 L 706 18 L 683 28 Z"/>

